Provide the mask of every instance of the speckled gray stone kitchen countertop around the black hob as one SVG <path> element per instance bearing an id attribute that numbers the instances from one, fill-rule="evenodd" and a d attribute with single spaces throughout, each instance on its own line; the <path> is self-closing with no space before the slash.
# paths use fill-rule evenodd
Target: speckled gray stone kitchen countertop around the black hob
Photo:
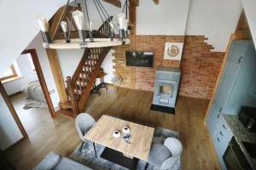
<path id="1" fill-rule="evenodd" d="M 247 129 L 243 127 L 241 122 L 236 118 L 236 116 L 224 114 L 224 119 L 230 127 L 231 131 L 233 132 L 236 142 L 240 145 L 242 152 L 247 158 L 247 161 L 250 163 L 253 169 L 256 169 L 256 159 L 249 156 L 244 145 L 241 143 L 241 141 L 244 141 L 256 144 L 256 133 L 248 132 Z"/>

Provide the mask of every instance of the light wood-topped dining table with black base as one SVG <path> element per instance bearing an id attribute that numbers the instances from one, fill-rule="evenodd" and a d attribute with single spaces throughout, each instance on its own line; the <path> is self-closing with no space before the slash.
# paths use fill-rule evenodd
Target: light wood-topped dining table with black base
<path id="1" fill-rule="evenodd" d="M 130 144 L 123 139 L 122 129 L 131 129 Z M 113 131 L 119 130 L 121 136 L 113 138 Z M 154 128 L 128 122 L 112 116 L 103 115 L 84 135 L 84 139 L 106 146 L 102 158 L 120 166 L 134 169 L 138 159 L 148 161 L 148 154 L 154 135 Z"/>

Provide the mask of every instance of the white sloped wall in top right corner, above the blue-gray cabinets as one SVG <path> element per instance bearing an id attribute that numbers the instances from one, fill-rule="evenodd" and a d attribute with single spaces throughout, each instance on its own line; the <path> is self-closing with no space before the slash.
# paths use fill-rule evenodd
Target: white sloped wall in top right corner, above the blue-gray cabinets
<path id="1" fill-rule="evenodd" d="M 241 0 L 247 21 L 253 36 L 254 46 L 256 44 L 256 0 Z"/>

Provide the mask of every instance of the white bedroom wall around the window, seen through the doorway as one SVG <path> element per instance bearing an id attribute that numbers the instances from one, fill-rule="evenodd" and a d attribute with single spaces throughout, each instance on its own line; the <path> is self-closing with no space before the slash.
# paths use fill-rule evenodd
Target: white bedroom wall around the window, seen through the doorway
<path id="1" fill-rule="evenodd" d="M 18 73 L 20 78 L 3 83 L 3 87 L 8 95 L 20 92 L 20 89 L 28 82 L 38 80 L 36 72 L 32 71 L 27 54 L 21 54 L 16 63 L 20 70 L 20 74 Z"/>

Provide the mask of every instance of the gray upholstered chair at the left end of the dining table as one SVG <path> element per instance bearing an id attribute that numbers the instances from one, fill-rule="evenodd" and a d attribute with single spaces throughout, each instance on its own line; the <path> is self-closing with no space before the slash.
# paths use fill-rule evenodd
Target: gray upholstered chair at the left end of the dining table
<path id="1" fill-rule="evenodd" d="M 90 116 L 88 113 L 80 113 L 76 119 L 75 119 L 75 125 L 79 133 L 80 139 L 83 141 L 80 147 L 80 152 L 82 151 L 84 142 L 86 141 L 84 139 L 84 134 L 86 134 L 89 130 L 90 127 L 92 127 L 95 124 L 95 120 L 92 116 Z M 95 144 L 93 143 L 95 155 L 96 155 L 96 149 L 95 149 Z"/>

